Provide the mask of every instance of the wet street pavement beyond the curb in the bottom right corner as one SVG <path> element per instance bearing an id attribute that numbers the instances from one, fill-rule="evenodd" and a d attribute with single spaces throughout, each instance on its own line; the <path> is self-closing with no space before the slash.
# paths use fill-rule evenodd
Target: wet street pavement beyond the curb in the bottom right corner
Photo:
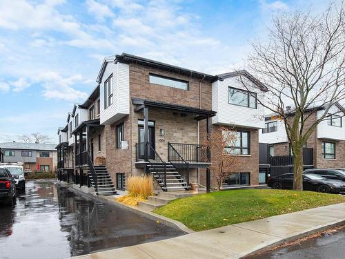
<path id="1" fill-rule="evenodd" d="M 246 259 L 342 259 L 345 258 L 345 229 Z"/>

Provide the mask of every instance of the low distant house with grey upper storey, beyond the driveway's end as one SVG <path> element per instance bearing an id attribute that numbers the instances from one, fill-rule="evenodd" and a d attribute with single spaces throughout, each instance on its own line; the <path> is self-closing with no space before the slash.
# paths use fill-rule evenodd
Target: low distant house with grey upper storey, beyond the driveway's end
<path id="1" fill-rule="evenodd" d="M 26 172 L 56 171 L 57 151 L 55 144 L 6 142 L 0 143 L 3 162 L 21 162 Z"/>

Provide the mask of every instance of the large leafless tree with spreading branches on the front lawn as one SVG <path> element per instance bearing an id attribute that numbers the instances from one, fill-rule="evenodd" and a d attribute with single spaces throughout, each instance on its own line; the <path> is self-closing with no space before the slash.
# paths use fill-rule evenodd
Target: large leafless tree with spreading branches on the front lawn
<path id="1" fill-rule="evenodd" d="M 268 87 L 266 102 L 258 102 L 284 121 L 295 157 L 295 190 L 303 189 L 303 145 L 328 119 L 331 106 L 345 97 L 344 20 L 344 2 L 330 3 L 319 16 L 280 13 L 268 31 L 269 42 L 253 44 L 249 68 Z M 320 107 L 322 112 L 306 124 Z"/>

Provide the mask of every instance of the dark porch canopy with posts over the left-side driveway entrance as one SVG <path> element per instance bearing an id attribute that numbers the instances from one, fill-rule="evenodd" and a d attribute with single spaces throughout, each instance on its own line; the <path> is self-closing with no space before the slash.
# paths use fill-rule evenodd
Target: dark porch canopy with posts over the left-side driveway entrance
<path id="1" fill-rule="evenodd" d="M 90 133 L 95 128 L 103 128 L 104 125 L 99 124 L 99 119 L 90 119 L 81 122 L 72 134 L 75 135 L 75 166 L 86 166 L 88 164 L 88 156 L 90 155 Z M 77 136 L 79 135 L 79 146 L 77 147 Z M 83 137 L 86 139 L 86 146 L 83 146 Z M 79 148 L 79 150 L 77 150 Z"/>

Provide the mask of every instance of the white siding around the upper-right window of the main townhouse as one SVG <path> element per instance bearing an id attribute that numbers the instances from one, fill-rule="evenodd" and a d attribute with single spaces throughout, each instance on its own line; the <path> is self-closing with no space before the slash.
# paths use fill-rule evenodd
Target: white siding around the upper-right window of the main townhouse
<path id="1" fill-rule="evenodd" d="M 234 87 L 246 90 L 238 77 L 226 78 L 223 81 L 213 83 L 213 109 L 217 116 L 213 118 L 213 124 L 226 124 L 243 126 L 248 128 L 264 127 L 264 107 L 257 104 L 257 109 L 228 104 L 228 88 Z M 253 86 L 248 81 L 248 89 L 257 93 L 258 99 L 264 99 L 264 92 Z M 217 99 L 216 99 L 217 97 Z"/>

